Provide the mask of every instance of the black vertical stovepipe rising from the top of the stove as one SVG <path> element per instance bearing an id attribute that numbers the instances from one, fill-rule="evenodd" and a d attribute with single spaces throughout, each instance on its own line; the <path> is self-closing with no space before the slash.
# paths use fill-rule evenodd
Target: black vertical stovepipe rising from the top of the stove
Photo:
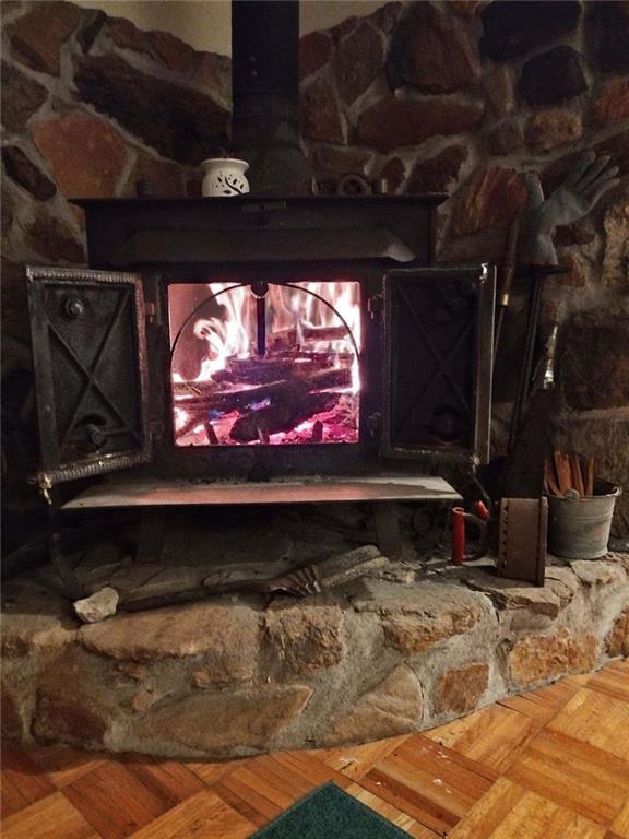
<path id="1" fill-rule="evenodd" d="M 307 194 L 299 145 L 298 0 L 232 0 L 234 154 L 253 194 Z"/>

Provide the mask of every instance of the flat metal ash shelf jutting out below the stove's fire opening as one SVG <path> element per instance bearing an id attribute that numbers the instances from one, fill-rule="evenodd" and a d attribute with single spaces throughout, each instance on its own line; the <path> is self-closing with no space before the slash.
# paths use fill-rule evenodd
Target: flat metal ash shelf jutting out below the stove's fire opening
<path id="1" fill-rule="evenodd" d="M 63 510 L 111 507 L 179 507 L 227 504 L 307 504 L 340 501 L 461 501 L 441 477 L 377 475 L 293 478 L 268 483 L 118 480 L 91 486 Z"/>

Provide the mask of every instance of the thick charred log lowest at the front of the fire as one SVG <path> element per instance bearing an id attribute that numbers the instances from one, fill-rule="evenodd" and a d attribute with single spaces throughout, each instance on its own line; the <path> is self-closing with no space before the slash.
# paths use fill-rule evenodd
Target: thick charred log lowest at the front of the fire
<path id="1" fill-rule="evenodd" d="M 339 393 L 312 392 L 295 402 L 272 403 L 268 407 L 250 411 L 236 420 L 229 436 L 237 442 L 251 442 L 277 432 L 290 432 L 295 426 L 310 420 L 314 414 L 331 411 L 339 402 Z"/>

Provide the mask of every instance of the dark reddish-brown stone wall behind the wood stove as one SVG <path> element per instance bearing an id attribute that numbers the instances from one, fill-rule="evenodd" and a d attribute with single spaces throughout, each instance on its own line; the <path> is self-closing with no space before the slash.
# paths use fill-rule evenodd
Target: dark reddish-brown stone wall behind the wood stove
<path id="1" fill-rule="evenodd" d="M 27 332 L 24 261 L 80 263 L 70 197 L 193 194 L 229 138 L 229 60 L 71 3 L 4 2 L 2 286 L 9 334 Z M 317 170 L 444 191 L 438 258 L 500 260 L 523 172 L 557 185 L 582 149 L 621 184 L 558 232 L 567 273 L 544 323 L 563 324 L 556 442 L 629 485 L 629 12 L 622 2 L 391 2 L 301 39 L 305 143 Z M 524 298 L 506 324 L 498 448 L 513 398 Z M 629 493 L 625 509 L 628 509 Z"/>

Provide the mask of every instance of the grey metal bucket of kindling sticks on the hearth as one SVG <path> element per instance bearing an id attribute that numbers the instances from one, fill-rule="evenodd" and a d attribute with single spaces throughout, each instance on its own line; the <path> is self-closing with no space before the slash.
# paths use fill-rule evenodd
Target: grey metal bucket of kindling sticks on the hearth
<path id="1" fill-rule="evenodd" d="M 571 559 L 597 559 L 607 553 L 612 516 L 620 487 L 594 482 L 586 498 L 548 496 L 548 550 Z"/>

